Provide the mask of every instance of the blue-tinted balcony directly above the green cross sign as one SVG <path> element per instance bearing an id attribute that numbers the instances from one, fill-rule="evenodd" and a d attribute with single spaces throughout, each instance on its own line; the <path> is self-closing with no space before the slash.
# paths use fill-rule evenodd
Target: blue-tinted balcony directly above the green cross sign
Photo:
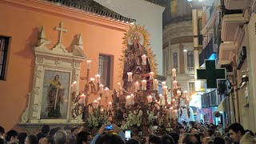
<path id="1" fill-rule="evenodd" d="M 205 59 L 210 58 L 211 54 L 216 54 L 216 51 L 214 50 L 213 38 L 210 39 L 210 42 L 208 42 L 206 47 L 199 54 L 199 66 L 202 66 L 202 64 L 205 62 Z"/>

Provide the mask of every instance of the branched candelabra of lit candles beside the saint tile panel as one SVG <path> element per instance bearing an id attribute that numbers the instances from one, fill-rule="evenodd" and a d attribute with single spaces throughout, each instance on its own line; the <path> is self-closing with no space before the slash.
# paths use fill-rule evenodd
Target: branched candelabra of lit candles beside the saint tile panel
<path id="1" fill-rule="evenodd" d="M 71 85 L 71 98 L 74 102 L 72 109 L 72 117 L 77 118 L 82 114 L 82 119 L 88 126 L 88 118 L 90 115 L 89 108 L 92 108 L 92 112 L 95 113 L 105 113 L 106 106 L 102 105 L 102 96 L 105 95 L 106 102 L 109 96 L 109 88 L 103 89 L 103 85 L 100 83 L 100 75 L 96 74 L 95 78 L 90 78 L 90 65 L 91 61 L 86 61 L 86 77 L 81 77 L 81 80 L 85 80 L 85 88 L 82 90 L 82 93 L 78 93 L 77 83 L 73 82 Z M 77 94 L 78 93 L 78 94 Z M 93 102 L 88 102 L 90 95 L 94 95 L 97 99 Z M 104 111 L 105 110 L 105 111 Z"/>

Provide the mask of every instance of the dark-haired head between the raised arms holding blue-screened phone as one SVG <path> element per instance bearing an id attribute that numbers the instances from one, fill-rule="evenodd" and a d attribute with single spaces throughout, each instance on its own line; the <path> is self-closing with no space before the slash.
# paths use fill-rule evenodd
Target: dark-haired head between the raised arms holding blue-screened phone
<path id="1" fill-rule="evenodd" d="M 95 142 L 96 144 L 124 144 L 125 142 L 116 133 L 106 133 L 99 136 Z"/>

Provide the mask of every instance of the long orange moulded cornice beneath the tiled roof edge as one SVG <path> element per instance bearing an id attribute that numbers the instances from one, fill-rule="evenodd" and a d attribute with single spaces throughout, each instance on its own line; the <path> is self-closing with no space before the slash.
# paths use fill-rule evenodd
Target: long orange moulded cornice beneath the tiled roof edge
<path id="1" fill-rule="evenodd" d="M 20 6 L 26 10 L 35 10 L 48 14 L 58 14 L 64 17 L 75 19 L 82 22 L 90 22 L 96 25 L 109 27 L 121 31 L 132 26 L 132 23 L 121 22 L 118 19 L 107 18 L 99 14 L 86 12 L 84 10 L 77 10 L 68 6 L 56 6 L 51 2 L 42 0 L 1 0 L 0 3 L 4 3 L 10 6 Z"/>

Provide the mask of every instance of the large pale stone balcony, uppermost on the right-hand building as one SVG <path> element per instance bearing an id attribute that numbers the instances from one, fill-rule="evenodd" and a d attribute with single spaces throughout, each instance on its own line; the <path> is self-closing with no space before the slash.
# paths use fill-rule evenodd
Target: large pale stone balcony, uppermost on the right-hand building
<path id="1" fill-rule="evenodd" d="M 225 15 L 222 18 L 222 41 L 234 42 L 239 27 L 246 20 L 242 17 L 242 10 L 226 10 L 224 13 Z"/>

